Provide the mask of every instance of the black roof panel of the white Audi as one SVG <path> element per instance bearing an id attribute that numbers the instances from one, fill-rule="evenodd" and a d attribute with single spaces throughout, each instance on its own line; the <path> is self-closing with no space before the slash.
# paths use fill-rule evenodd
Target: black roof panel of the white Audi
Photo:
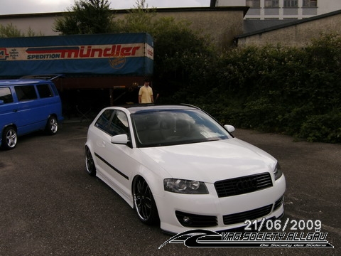
<path id="1" fill-rule="evenodd" d="M 169 110 L 199 110 L 198 107 L 191 105 L 123 105 L 131 114 L 146 113 L 146 112 L 158 112 Z"/>

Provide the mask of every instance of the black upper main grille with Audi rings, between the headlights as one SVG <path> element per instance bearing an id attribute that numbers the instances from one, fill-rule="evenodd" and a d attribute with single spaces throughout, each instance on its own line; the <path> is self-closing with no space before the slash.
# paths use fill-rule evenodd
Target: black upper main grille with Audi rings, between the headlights
<path id="1" fill-rule="evenodd" d="M 230 178 L 215 182 L 218 197 L 236 196 L 273 186 L 269 173 Z"/>

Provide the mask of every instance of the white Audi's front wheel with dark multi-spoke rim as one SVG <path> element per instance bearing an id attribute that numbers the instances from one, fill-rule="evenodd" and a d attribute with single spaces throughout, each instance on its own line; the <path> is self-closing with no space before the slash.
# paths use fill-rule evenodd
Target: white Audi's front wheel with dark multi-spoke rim
<path id="1" fill-rule="evenodd" d="M 134 209 L 141 222 L 155 225 L 159 222 L 153 193 L 144 178 L 136 178 L 133 185 Z"/>

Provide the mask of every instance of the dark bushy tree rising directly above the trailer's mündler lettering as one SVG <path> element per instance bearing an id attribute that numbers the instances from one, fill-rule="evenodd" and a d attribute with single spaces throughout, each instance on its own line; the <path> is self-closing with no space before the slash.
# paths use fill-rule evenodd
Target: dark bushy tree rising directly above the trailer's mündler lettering
<path id="1" fill-rule="evenodd" d="M 55 21 L 53 31 L 62 35 L 110 33 L 114 25 L 108 0 L 75 0 Z"/>

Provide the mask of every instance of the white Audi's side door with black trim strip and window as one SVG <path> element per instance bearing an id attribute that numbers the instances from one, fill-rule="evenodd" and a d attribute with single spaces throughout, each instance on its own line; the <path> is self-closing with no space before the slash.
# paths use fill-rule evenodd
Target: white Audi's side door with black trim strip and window
<path id="1" fill-rule="evenodd" d="M 131 178 L 138 163 L 131 157 L 132 151 L 126 144 L 113 144 L 112 136 L 127 134 L 130 138 L 129 122 L 121 110 L 114 110 L 108 125 L 104 129 L 102 137 L 97 137 L 97 162 L 101 166 L 103 175 L 109 182 L 124 193 L 124 196 L 131 197 Z"/>

